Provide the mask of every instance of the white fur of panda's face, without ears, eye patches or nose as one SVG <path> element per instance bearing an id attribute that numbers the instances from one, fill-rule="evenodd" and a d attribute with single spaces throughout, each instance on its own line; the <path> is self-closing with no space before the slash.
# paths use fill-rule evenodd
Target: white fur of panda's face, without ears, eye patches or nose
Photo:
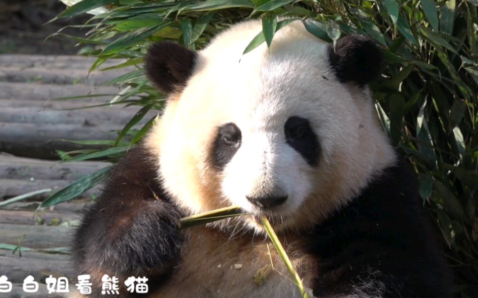
<path id="1" fill-rule="evenodd" d="M 260 21 L 233 26 L 198 52 L 191 79 L 170 99 L 148 143 L 160 148 L 160 177 L 185 212 L 239 205 L 259 215 L 246 195 L 275 191 L 288 195 L 273 214 L 284 218 L 277 228 L 308 228 L 360 193 L 395 156 L 370 91 L 337 81 L 326 43 L 297 21 L 275 34 L 270 49 L 263 44 L 243 55 L 261 28 Z M 308 119 L 317 134 L 318 167 L 285 143 L 291 116 Z M 209 154 L 216 128 L 229 122 L 241 129 L 242 145 L 220 171 Z"/>

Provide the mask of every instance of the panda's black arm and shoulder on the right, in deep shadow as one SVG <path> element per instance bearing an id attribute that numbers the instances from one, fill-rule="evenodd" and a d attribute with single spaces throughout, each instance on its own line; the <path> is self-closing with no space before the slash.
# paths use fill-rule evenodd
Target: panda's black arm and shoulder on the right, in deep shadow
<path id="1" fill-rule="evenodd" d="M 451 297 L 450 269 L 417 189 L 402 161 L 307 236 L 321 263 L 314 295 Z"/>

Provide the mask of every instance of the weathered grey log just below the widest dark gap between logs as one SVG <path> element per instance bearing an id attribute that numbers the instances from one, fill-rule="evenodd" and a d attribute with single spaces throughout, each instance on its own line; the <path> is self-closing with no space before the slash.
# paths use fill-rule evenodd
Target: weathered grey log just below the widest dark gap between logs
<path id="1" fill-rule="evenodd" d="M 74 181 L 110 165 L 108 162 L 58 163 L 0 154 L 0 179 L 51 179 Z"/>

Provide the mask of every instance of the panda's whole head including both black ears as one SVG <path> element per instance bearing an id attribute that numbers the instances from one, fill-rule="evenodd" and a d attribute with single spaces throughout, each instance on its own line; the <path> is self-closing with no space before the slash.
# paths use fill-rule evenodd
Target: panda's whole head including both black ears
<path id="1" fill-rule="evenodd" d="M 243 55 L 261 30 L 235 25 L 198 52 L 153 45 L 146 74 L 168 103 L 146 145 L 183 212 L 238 205 L 253 216 L 218 225 L 260 232 L 267 215 L 276 230 L 306 229 L 394 162 L 366 86 L 381 55 L 357 35 L 334 50 L 300 21 Z"/>

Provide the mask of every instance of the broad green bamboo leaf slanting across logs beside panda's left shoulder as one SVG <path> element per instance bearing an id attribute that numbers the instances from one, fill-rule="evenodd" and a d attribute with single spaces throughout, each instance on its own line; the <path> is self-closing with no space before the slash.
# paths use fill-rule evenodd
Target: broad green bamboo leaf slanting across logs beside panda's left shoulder
<path id="1" fill-rule="evenodd" d="M 62 202 L 72 200 L 73 198 L 77 197 L 78 195 L 82 194 L 83 192 L 87 191 L 98 183 L 104 181 L 108 177 L 108 173 L 111 168 L 112 166 L 104 167 L 101 170 L 94 172 L 93 174 L 74 181 L 73 183 L 60 189 L 58 192 L 54 193 L 45 201 L 43 201 L 40 204 L 39 208 L 50 207 L 53 205 L 60 204 Z"/>

